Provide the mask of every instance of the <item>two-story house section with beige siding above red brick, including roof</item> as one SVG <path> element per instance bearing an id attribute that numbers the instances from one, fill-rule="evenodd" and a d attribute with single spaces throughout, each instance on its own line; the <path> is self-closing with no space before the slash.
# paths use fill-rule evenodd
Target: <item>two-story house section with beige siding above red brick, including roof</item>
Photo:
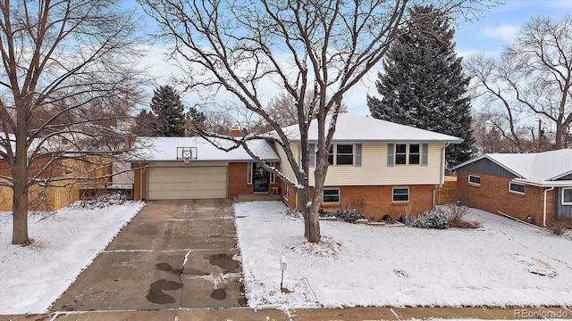
<path id="1" fill-rule="evenodd" d="M 284 131 L 290 134 L 290 148 L 300 158 L 298 125 Z M 314 149 L 316 121 L 309 128 L 308 141 L 310 150 Z M 322 208 L 335 211 L 355 207 L 366 218 L 378 220 L 385 214 L 397 219 L 432 209 L 444 181 L 445 149 L 461 142 L 454 136 L 342 113 L 333 136 Z M 282 172 L 296 182 L 285 154 L 277 151 Z M 314 185 L 314 161 L 310 156 L 310 186 Z M 296 193 L 282 182 L 281 190 L 285 202 L 299 208 Z"/>

